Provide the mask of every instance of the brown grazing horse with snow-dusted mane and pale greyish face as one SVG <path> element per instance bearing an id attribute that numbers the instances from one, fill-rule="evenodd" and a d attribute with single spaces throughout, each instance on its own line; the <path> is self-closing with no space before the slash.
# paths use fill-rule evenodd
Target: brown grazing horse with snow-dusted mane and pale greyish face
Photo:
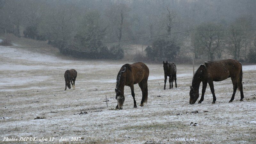
<path id="1" fill-rule="evenodd" d="M 140 106 L 143 106 L 144 102 L 148 100 L 148 75 L 149 69 L 142 62 L 135 62 L 133 64 L 125 64 L 119 70 L 116 78 L 116 108 L 123 109 L 124 104 L 124 86 L 130 86 L 132 91 L 132 98 L 134 103 L 134 108 L 137 108 L 134 94 L 133 84 L 139 84 L 142 91 L 142 100 Z"/>

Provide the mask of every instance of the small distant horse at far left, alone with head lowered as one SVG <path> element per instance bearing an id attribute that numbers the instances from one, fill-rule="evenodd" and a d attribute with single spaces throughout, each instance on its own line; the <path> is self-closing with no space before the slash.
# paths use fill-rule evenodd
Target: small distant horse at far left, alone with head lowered
<path id="1" fill-rule="evenodd" d="M 71 82 L 71 84 L 73 86 L 73 89 L 75 89 L 76 76 L 77 76 L 77 72 L 76 72 L 75 69 L 70 69 L 70 70 L 66 70 L 65 71 L 65 74 L 64 74 L 65 82 L 66 82 L 65 90 L 67 89 L 67 86 L 68 86 L 69 89 L 71 88 L 70 87 L 70 82 Z M 72 81 L 73 81 L 74 84 L 72 83 Z"/>

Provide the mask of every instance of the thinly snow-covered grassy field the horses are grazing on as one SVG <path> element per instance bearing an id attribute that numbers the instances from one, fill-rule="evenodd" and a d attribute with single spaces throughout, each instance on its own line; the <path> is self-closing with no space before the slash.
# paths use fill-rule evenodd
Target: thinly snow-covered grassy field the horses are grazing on
<path id="1" fill-rule="evenodd" d="M 164 90 L 162 63 L 146 63 L 150 71 L 148 103 L 133 108 L 131 90 L 125 87 L 123 110 L 115 110 L 116 75 L 123 64 L 132 62 L 64 60 L 3 47 L 0 60 L 1 142 L 4 137 L 48 140 L 54 137 L 54 142 L 61 137 L 81 137 L 81 143 L 256 141 L 256 65 L 243 66 L 244 101 L 239 101 L 237 91 L 235 100 L 228 103 L 233 92 L 228 78 L 214 82 L 216 104 L 212 104 L 208 85 L 202 104 L 189 105 L 191 65 L 177 65 L 178 87 Z M 64 72 L 71 68 L 78 73 L 76 90 L 63 91 Z M 106 96 L 108 108 L 104 102 Z M 138 84 L 135 99 L 138 105 L 141 100 Z M 88 114 L 78 114 L 84 111 Z M 45 119 L 35 120 L 37 116 Z"/>

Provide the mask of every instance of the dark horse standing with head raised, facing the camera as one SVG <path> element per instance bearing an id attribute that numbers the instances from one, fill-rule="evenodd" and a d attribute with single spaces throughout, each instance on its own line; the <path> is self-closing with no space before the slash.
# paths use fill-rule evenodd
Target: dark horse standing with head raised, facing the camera
<path id="1" fill-rule="evenodd" d="M 165 84 L 166 84 L 166 79 L 167 76 L 169 76 L 169 83 L 170 83 L 170 89 L 173 87 L 173 84 L 171 86 L 171 82 L 173 82 L 173 80 L 175 80 L 175 87 L 177 88 L 177 83 L 176 83 L 176 65 L 175 63 L 168 63 L 168 61 L 166 61 L 166 63 L 164 63 L 164 90 L 165 90 Z"/>

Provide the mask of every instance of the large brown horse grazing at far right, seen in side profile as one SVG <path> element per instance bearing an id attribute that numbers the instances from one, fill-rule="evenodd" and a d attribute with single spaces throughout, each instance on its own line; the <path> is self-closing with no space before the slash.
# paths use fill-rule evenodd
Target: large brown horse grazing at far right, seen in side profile
<path id="1" fill-rule="evenodd" d="M 204 100 L 204 92 L 207 86 L 207 83 L 210 85 L 213 101 L 215 103 L 216 97 L 214 94 L 213 81 L 219 82 L 231 78 L 233 83 L 233 95 L 229 102 L 232 102 L 235 98 L 236 89 L 240 90 L 241 99 L 243 101 L 243 84 L 242 84 L 242 64 L 236 60 L 220 60 L 220 61 L 208 61 L 204 62 L 196 70 L 196 73 L 192 80 L 192 86 L 190 86 L 190 100 L 189 104 L 194 104 L 199 97 L 199 86 L 203 82 L 202 96 L 198 103 L 201 103 Z"/>

